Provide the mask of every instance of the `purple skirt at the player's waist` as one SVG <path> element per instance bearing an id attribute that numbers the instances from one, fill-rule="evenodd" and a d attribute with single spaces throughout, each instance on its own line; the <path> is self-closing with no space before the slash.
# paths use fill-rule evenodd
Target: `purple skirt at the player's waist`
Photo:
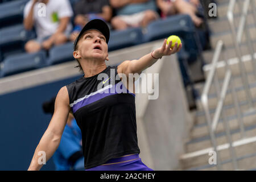
<path id="1" fill-rule="evenodd" d="M 121 158 L 113 158 L 105 164 L 93 168 L 85 169 L 85 171 L 154 171 L 148 168 L 139 157 L 139 154 L 127 155 Z"/>

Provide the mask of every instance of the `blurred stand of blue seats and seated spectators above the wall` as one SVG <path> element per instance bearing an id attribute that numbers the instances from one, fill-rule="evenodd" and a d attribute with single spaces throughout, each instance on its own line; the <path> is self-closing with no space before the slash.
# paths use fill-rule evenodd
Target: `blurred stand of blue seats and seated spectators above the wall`
<path id="1" fill-rule="evenodd" d="M 1 2 L 0 62 L 3 62 L 0 69 L 1 77 L 72 60 L 72 42 L 86 22 L 95 18 L 105 20 L 109 24 L 112 35 L 109 51 L 113 51 L 167 38 L 174 28 L 179 34 L 181 32 L 177 24 L 179 18 L 175 21 L 175 17 L 188 15 L 188 21 L 192 23 L 187 23 L 191 34 L 180 35 L 186 44 L 184 51 L 179 55 L 185 86 L 191 83 L 191 80 L 184 65 L 186 63 L 181 60 L 186 57 L 186 62 L 191 63 L 197 60 L 200 51 L 210 48 L 210 30 L 206 12 L 209 9 L 209 2 L 214 1 L 2 0 Z M 155 28 L 156 32 L 151 30 L 152 28 Z M 53 52 L 56 55 L 67 50 L 69 50 L 67 55 L 58 58 L 53 56 Z M 15 56 L 19 55 L 19 58 L 26 57 L 27 60 L 31 60 L 31 55 L 26 53 L 36 52 L 40 52 L 39 57 L 42 59 L 38 61 L 39 63 L 32 65 L 31 63 L 24 65 L 24 63 L 17 68 L 9 69 L 9 63 L 16 60 Z M 201 60 L 201 63 L 203 65 L 204 61 Z"/>

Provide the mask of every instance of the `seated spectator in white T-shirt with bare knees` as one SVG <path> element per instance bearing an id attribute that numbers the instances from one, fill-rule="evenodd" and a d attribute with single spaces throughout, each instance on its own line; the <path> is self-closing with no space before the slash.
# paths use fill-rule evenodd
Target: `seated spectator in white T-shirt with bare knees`
<path id="1" fill-rule="evenodd" d="M 44 6 L 42 6 L 44 3 Z M 30 0 L 24 8 L 24 28 L 35 27 L 37 38 L 25 44 L 27 52 L 48 50 L 67 42 L 72 31 L 72 7 L 68 0 Z"/>

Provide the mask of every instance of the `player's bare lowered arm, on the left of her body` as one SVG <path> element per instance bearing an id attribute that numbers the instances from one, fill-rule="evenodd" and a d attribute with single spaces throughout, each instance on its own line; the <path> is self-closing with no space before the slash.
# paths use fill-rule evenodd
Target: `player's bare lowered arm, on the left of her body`
<path id="1" fill-rule="evenodd" d="M 61 135 L 67 123 L 69 113 L 69 97 L 67 87 L 59 90 L 55 101 L 55 110 L 51 122 L 36 147 L 34 156 L 31 160 L 28 170 L 40 170 L 43 164 L 39 163 L 42 152 L 46 154 L 46 161 L 51 158 L 59 146 Z"/>

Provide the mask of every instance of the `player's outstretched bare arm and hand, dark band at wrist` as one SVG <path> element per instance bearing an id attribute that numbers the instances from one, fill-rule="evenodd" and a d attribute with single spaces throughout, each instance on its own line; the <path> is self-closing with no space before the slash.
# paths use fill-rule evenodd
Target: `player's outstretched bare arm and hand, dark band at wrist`
<path id="1" fill-rule="evenodd" d="M 151 67 L 162 56 L 170 56 L 182 48 L 182 44 L 175 43 L 175 46 L 171 48 L 172 41 L 167 44 L 167 39 L 164 39 L 163 45 L 158 49 L 155 49 L 151 53 L 141 57 L 139 60 L 124 61 L 118 66 L 118 73 L 123 73 L 129 76 L 129 73 L 141 73 L 144 69 Z"/>

